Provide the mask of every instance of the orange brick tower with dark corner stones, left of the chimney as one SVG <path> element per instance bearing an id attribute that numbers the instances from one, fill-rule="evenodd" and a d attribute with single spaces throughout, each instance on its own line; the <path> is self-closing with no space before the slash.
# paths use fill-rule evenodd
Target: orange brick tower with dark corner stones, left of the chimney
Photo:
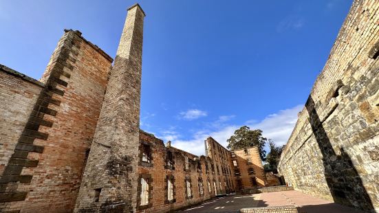
<path id="1" fill-rule="evenodd" d="M 8 131 L 18 141 L 0 179 L 1 210 L 72 212 L 111 61 L 80 32 L 66 30 L 43 74 L 44 87 L 34 89 L 38 97 L 30 93 L 20 112 L 21 136 Z"/>

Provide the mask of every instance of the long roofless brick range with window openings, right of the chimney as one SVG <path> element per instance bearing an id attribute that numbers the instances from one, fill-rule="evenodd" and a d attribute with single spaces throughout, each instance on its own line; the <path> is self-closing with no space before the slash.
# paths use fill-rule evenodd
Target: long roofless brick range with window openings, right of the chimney
<path id="1" fill-rule="evenodd" d="M 243 180 L 240 192 L 244 189 L 256 189 L 265 186 L 265 175 L 256 147 L 236 150 L 241 170 L 235 176 L 238 166 L 232 166 L 232 152 L 221 146 L 212 137 L 205 141 L 206 155 L 196 156 L 171 146 L 166 146 L 161 139 L 140 131 L 140 147 L 138 155 L 138 177 L 149 180 L 149 201 L 143 202 L 142 186 L 138 186 L 137 210 L 143 212 L 168 212 L 184 206 L 193 205 L 216 195 L 235 192 L 237 179 Z M 243 153 L 243 154 L 242 154 Z M 239 156 L 241 155 L 241 156 Z M 248 159 L 252 159 L 248 163 Z M 254 168 L 249 172 L 248 168 Z M 252 178 L 257 180 L 252 182 Z M 174 179 L 174 195 L 169 199 L 168 179 Z M 188 195 L 186 180 L 191 183 L 191 196 Z M 141 181 L 141 180 L 140 180 Z M 140 184 L 140 181 L 138 183 Z M 246 183 L 245 183 L 246 182 Z M 141 184 L 140 184 L 141 185 Z M 162 194 L 164 192 L 164 194 Z M 144 205 L 142 205 L 144 204 Z"/>

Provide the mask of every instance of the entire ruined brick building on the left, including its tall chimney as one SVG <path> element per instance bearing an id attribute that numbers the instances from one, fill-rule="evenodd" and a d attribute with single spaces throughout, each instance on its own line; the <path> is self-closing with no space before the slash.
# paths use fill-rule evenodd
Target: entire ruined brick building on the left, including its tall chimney
<path id="1" fill-rule="evenodd" d="M 266 185 L 256 147 L 208 137 L 199 157 L 140 130 L 144 16 L 128 9 L 114 63 L 65 30 L 41 80 L 0 65 L 0 212 L 167 212 Z"/>

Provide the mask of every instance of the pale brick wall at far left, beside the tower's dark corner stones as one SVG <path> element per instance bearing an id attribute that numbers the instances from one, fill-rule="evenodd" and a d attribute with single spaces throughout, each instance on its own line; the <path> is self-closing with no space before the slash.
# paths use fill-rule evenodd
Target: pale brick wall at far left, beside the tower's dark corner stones
<path id="1" fill-rule="evenodd" d="M 0 65 L 0 174 L 14 153 L 43 83 Z"/>

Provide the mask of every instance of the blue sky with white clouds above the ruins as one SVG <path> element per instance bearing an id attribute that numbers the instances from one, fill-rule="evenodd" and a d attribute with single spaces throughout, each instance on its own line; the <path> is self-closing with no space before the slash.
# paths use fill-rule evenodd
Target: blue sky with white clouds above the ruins
<path id="1" fill-rule="evenodd" d="M 39 79 L 63 29 L 116 54 L 135 1 L 0 0 L 0 63 Z M 139 1 L 141 128 L 204 154 L 242 125 L 285 144 L 351 5 L 323 1 Z"/>

